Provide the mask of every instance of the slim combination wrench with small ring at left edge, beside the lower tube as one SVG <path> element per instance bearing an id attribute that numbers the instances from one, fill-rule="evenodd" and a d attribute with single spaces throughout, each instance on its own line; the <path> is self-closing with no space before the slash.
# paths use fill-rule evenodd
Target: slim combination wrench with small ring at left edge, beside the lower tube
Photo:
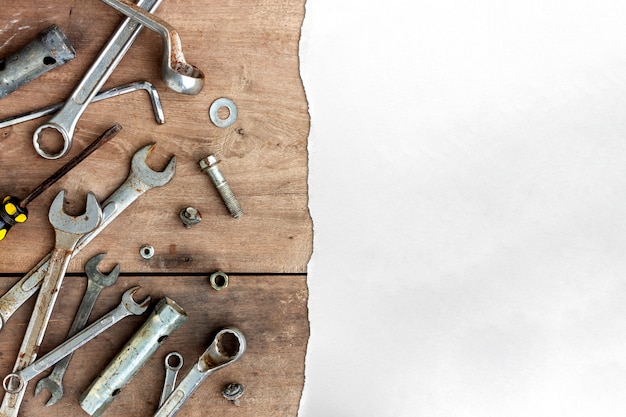
<path id="1" fill-rule="evenodd" d="M 7 375 L 2 381 L 2 386 L 10 394 L 17 394 L 26 388 L 26 384 L 46 369 L 59 363 L 60 360 L 71 356 L 77 349 L 128 316 L 143 314 L 150 305 L 150 296 L 141 303 L 133 299 L 140 287 L 133 287 L 122 295 L 122 302 L 109 313 L 102 316 L 89 327 L 67 339 L 56 348 L 52 349 L 42 358 L 33 362 L 26 368 Z"/>

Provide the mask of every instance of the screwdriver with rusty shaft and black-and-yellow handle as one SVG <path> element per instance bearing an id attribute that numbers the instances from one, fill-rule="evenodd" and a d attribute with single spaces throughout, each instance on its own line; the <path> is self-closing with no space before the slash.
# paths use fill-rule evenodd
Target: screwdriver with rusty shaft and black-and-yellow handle
<path id="1" fill-rule="evenodd" d="M 106 132 L 104 132 L 98 139 L 89 144 L 78 155 L 72 158 L 67 164 L 63 165 L 59 170 L 52 174 L 48 179 L 39 184 L 37 188 L 31 191 L 23 199 L 19 199 L 12 195 L 4 197 L 2 204 L 0 204 L 0 240 L 4 239 L 12 226 L 17 223 L 24 223 L 28 219 L 28 210 L 26 206 L 28 203 L 37 198 L 41 193 L 46 191 L 52 184 L 60 180 L 65 174 L 70 172 L 72 168 L 78 165 L 83 159 L 87 158 L 100 146 L 114 138 L 115 135 L 122 130 L 122 126 L 115 124 Z"/>

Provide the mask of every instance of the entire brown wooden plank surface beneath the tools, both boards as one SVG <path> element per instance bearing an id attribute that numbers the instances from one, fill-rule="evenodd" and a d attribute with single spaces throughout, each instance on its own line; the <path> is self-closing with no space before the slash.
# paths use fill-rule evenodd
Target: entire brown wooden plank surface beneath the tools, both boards
<path id="1" fill-rule="evenodd" d="M 32 146 L 32 134 L 45 119 L 0 129 L 0 192 L 18 197 L 31 189 L 114 123 L 122 132 L 29 205 L 30 218 L 0 245 L 0 294 L 18 281 L 54 247 L 49 205 L 67 190 L 66 210 L 80 214 L 88 191 L 104 201 L 126 178 L 133 153 L 157 143 L 148 164 L 162 169 L 177 158 L 172 182 L 143 195 L 70 263 L 41 347 L 60 343 L 85 288 L 84 264 L 106 252 L 103 271 L 121 265 L 123 276 L 106 290 L 92 317 L 119 303 L 121 293 L 139 284 L 139 296 L 156 301 L 169 296 L 189 314 L 187 323 L 167 340 L 118 396 L 106 415 L 152 415 L 163 383 L 163 358 L 179 350 L 183 374 L 220 327 L 235 325 L 248 339 L 244 358 L 207 379 L 180 415 L 295 416 L 304 379 L 308 340 L 307 262 L 312 251 L 312 223 L 307 195 L 309 115 L 299 74 L 298 43 L 304 0 L 257 2 L 163 0 L 156 15 L 179 32 L 186 59 L 206 75 L 197 96 L 168 90 L 160 80 L 162 43 L 144 29 L 103 89 L 147 80 L 159 91 L 166 123 L 157 125 L 145 92 L 91 104 L 80 119 L 67 157 L 45 160 Z M 0 119 L 64 101 L 99 54 L 122 17 L 97 0 L 24 0 L 0 8 L 0 57 L 18 50 L 50 24 L 58 24 L 77 57 L 0 99 Z M 208 115 L 219 97 L 232 99 L 238 118 L 231 127 L 214 126 Z M 244 216 L 233 219 L 198 166 L 213 153 L 222 160 Z M 179 211 L 202 213 L 202 222 L 183 227 Z M 150 260 L 139 256 L 154 246 Z M 231 275 L 217 292 L 209 273 Z M 0 375 L 12 370 L 34 298 L 6 323 L 0 334 Z M 21 415 L 86 415 L 78 398 L 141 325 L 130 317 L 79 350 L 66 375 L 66 397 L 45 408 L 47 397 L 34 397 L 28 386 Z M 222 399 L 223 384 L 246 386 L 240 407 Z"/>

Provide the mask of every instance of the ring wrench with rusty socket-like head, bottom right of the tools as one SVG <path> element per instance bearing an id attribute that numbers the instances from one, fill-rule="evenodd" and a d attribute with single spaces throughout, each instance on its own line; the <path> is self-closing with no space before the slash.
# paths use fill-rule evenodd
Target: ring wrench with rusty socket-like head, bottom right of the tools
<path id="1" fill-rule="evenodd" d="M 234 337 L 237 346 L 224 346 L 222 338 L 225 335 Z M 206 377 L 239 360 L 245 351 L 246 338 L 240 330 L 234 327 L 226 327 L 220 330 L 215 335 L 211 345 L 200 356 L 198 363 L 187 372 L 187 375 L 159 407 L 154 417 L 173 417 L 176 415 Z"/>

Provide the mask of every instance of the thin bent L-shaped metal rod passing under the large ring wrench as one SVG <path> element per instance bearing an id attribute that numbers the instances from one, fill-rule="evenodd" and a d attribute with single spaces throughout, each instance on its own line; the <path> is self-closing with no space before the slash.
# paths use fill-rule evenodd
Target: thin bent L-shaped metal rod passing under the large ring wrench
<path id="1" fill-rule="evenodd" d="M 159 92 L 152 83 L 148 81 L 135 81 L 134 83 L 120 85 L 119 87 L 113 87 L 109 90 L 102 91 L 96 95 L 91 102 L 106 100 L 108 98 L 121 96 L 122 94 L 132 93 L 133 91 L 145 90 L 150 96 L 150 103 L 152 103 L 152 110 L 154 110 L 154 118 L 160 125 L 165 123 L 165 114 L 163 114 L 163 106 L 161 105 L 161 98 Z M 29 111 L 27 113 L 18 114 L 16 116 L 10 116 L 6 119 L 0 120 L 0 129 L 3 127 L 9 127 L 18 123 L 28 122 L 29 120 L 38 119 L 40 117 L 49 116 L 56 113 L 63 103 L 51 104 L 50 106 L 41 108 L 39 110 Z"/>

